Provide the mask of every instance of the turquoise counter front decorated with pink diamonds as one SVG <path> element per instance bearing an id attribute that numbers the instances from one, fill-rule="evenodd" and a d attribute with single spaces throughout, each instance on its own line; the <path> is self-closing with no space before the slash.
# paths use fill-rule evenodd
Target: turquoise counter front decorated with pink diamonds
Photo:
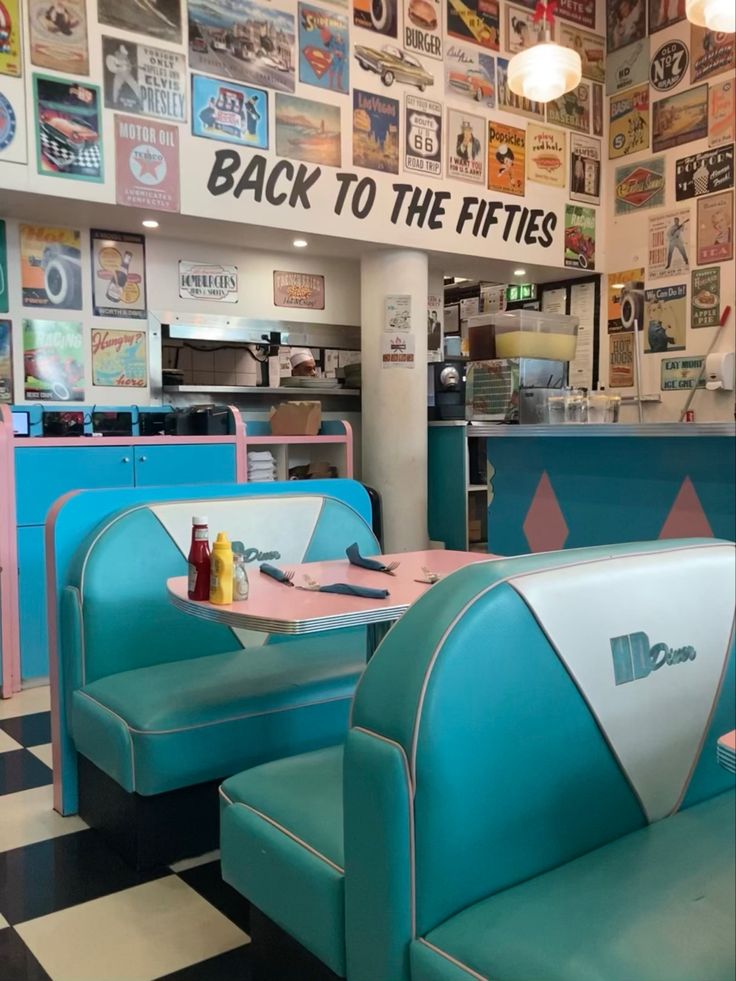
<path id="1" fill-rule="evenodd" d="M 430 474 L 486 440 L 488 551 L 501 555 L 656 538 L 734 540 L 733 423 L 430 426 Z M 463 533 L 464 481 L 430 488 L 432 538 Z M 454 517 L 453 517 L 454 516 Z M 441 532 L 449 531 L 449 535 Z M 452 540 L 450 548 L 460 547 Z"/>

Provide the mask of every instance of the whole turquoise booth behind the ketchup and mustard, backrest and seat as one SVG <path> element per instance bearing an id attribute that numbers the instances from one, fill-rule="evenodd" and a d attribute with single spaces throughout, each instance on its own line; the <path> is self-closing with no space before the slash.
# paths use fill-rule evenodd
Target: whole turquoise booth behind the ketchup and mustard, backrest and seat
<path id="1" fill-rule="evenodd" d="M 193 514 L 243 541 L 251 576 L 264 559 L 344 557 L 354 541 L 380 551 L 357 510 L 308 487 L 136 503 L 77 549 L 60 602 L 69 731 L 76 752 L 128 793 L 219 780 L 344 738 L 363 630 L 248 635 L 178 611 L 166 591 L 186 574 Z"/>

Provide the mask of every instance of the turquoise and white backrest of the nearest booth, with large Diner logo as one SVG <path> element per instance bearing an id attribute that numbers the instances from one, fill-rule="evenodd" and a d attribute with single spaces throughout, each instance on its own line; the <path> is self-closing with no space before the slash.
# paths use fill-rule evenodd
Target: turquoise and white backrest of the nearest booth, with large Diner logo
<path id="1" fill-rule="evenodd" d="M 348 916 L 378 902 L 377 877 L 385 885 L 375 851 L 364 860 L 377 840 L 408 834 L 384 863 L 408 856 L 391 914 L 401 920 L 403 890 L 423 936 L 727 789 L 715 742 L 734 728 L 735 582 L 732 543 L 688 540 L 490 561 L 434 586 L 356 693 Z M 389 782 L 395 804 L 379 828 L 365 811 L 391 799 Z"/>

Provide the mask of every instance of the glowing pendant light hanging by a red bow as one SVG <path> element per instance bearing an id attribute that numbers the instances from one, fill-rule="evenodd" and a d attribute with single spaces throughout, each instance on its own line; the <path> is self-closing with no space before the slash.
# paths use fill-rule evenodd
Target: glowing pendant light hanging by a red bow
<path id="1" fill-rule="evenodd" d="M 708 2 L 708 0 L 695 0 Z M 717 0 L 711 0 L 717 2 Z M 729 0 L 730 2 L 730 0 Z M 543 26 L 544 40 L 515 54 L 509 61 L 507 81 L 514 95 L 533 102 L 552 102 L 580 85 L 583 66 L 580 55 L 552 40 L 551 27 L 557 0 L 537 3 L 533 23 Z"/>

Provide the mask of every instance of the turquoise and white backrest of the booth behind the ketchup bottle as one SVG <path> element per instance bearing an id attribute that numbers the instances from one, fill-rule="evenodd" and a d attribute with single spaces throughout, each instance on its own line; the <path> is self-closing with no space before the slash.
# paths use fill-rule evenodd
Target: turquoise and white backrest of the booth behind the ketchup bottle
<path id="1" fill-rule="evenodd" d="M 213 536 L 225 530 L 242 541 L 253 571 L 262 561 L 341 558 L 352 542 L 365 554 L 379 551 L 365 520 L 325 494 L 163 500 L 126 508 L 80 547 L 65 590 L 62 647 L 72 688 L 243 646 L 237 631 L 195 620 L 169 602 L 166 580 L 186 574 L 194 514 L 208 517 Z"/>

